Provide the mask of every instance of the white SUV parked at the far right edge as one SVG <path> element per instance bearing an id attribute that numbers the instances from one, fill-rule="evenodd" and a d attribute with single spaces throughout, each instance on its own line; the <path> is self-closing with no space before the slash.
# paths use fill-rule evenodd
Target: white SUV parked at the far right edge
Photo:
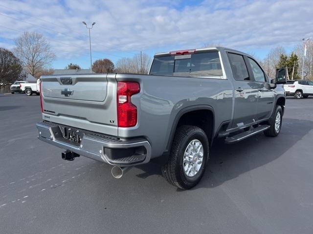
<path id="1" fill-rule="evenodd" d="M 312 80 L 287 80 L 284 84 L 284 89 L 287 96 L 294 98 L 308 98 L 313 95 L 313 81 Z"/>

